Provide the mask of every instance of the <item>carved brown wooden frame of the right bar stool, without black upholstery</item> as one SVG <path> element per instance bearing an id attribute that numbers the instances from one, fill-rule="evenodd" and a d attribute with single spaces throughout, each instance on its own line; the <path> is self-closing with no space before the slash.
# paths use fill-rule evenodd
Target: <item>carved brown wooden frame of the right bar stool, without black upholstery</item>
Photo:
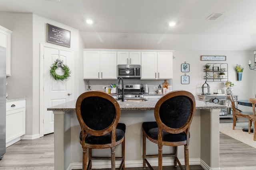
<path id="1" fill-rule="evenodd" d="M 173 128 L 170 128 L 170 127 L 164 125 L 164 123 L 161 121 L 160 116 L 159 116 L 160 106 L 166 100 L 168 100 L 170 98 L 173 98 L 175 96 L 187 96 L 188 98 L 190 98 L 190 101 L 191 101 L 191 110 L 190 110 L 189 118 L 188 118 L 187 122 L 182 127 L 177 128 L 177 129 L 173 129 Z M 146 164 L 147 164 L 148 167 L 150 168 L 150 170 L 154 170 L 152 168 L 152 166 L 150 165 L 150 163 L 148 162 L 147 158 L 158 157 L 158 170 L 162 170 L 162 157 L 163 156 L 174 156 L 174 166 L 177 166 L 177 163 L 178 163 L 180 168 L 183 170 L 183 167 L 180 164 L 180 161 L 177 157 L 177 147 L 181 146 L 181 145 L 184 145 L 185 169 L 189 170 L 189 156 L 188 156 L 189 129 L 190 129 L 192 119 L 194 117 L 195 108 L 196 108 L 196 103 L 195 103 L 195 98 L 194 98 L 193 94 L 191 94 L 190 92 L 184 91 L 184 90 L 177 90 L 177 91 L 170 92 L 170 93 L 164 95 L 162 98 L 160 98 L 158 100 L 158 102 L 156 103 L 155 109 L 154 109 L 154 116 L 155 116 L 155 119 L 156 119 L 156 123 L 158 125 L 158 139 L 151 138 L 150 136 L 148 136 L 146 134 L 144 129 L 142 129 L 142 132 L 143 132 L 143 168 L 144 169 L 146 168 Z M 168 133 L 173 133 L 173 134 L 178 134 L 178 133 L 185 132 L 186 135 L 187 135 L 187 140 L 180 141 L 180 142 L 162 141 L 163 130 L 167 131 Z M 158 154 L 156 154 L 156 155 L 146 155 L 146 138 L 149 141 L 158 144 Z M 162 154 L 163 145 L 173 146 L 174 147 L 174 153 Z"/>

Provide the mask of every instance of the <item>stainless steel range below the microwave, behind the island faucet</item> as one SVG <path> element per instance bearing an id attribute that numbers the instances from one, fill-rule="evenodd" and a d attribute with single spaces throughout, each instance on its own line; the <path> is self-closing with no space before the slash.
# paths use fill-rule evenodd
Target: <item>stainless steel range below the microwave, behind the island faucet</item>
<path id="1" fill-rule="evenodd" d="M 117 92 L 117 98 L 122 98 L 122 84 L 120 84 L 120 92 Z M 124 98 L 144 98 L 140 92 L 140 84 L 124 84 Z"/>

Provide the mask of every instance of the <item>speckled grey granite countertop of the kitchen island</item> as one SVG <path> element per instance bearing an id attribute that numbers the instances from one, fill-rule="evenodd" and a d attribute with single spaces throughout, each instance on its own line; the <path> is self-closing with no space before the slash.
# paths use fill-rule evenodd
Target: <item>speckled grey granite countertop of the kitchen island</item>
<path id="1" fill-rule="evenodd" d="M 125 101 L 122 102 L 118 100 L 121 110 L 154 110 L 156 102 L 159 98 L 147 98 L 147 101 L 143 102 L 130 102 Z M 196 100 L 196 109 L 224 109 L 227 108 L 226 106 L 209 103 L 209 102 L 202 102 Z M 47 108 L 47 110 L 51 111 L 75 111 L 76 110 L 76 100 L 66 102 L 64 104 L 60 104 L 57 106 L 52 106 Z"/>

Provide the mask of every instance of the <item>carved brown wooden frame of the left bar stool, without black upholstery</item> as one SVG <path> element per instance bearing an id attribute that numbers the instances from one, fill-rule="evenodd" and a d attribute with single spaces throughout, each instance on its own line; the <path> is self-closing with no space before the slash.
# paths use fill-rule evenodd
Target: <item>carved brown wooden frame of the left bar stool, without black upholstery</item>
<path id="1" fill-rule="evenodd" d="M 84 120 L 83 120 L 82 114 L 81 114 L 81 103 L 85 98 L 88 98 L 91 96 L 97 96 L 97 97 L 101 97 L 101 98 L 105 98 L 105 99 L 109 100 L 110 102 L 112 102 L 112 104 L 114 105 L 114 107 L 116 109 L 116 116 L 115 116 L 112 124 L 109 127 L 107 127 L 106 129 L 93 130 L 93 129 L 90 129 L 90 127 L 88 127 L 84 123 Z M 116 126 L 117 126 L 119 118 L 120 118 L 120 113 L 121 113 L 120 106 L 119 106 L 118 102 L 116 101 L 116 99 L 114 99 L 112 96 L 110 96 L 109 94 L 107 94 L 105 92 L 93 90 L 93 91 L 84 92 L 83 94 L 81 94 L 78 97 L 78 99 L 76 101 L 76 116 L 78 118 L 80 127 L 82 129 L 82 141 L 80 141 L 80 144 L 82 145 L 82 149 L 83 149 L 82 170 L 92 169 L 92 159 L 111 159 L 111 169 L 112 170 L 115 170 L 115 160 L 116 159 L 122 160 L 119 170 L 125 169 L 125 166 L 124 166 L 124 158 L 125 158 L 125 142 L 124 141 L 125 141 L 125 139 L 123 137 L 119 141 L 116 141 Z M 94 136 L 102 136 L 102 135 L 106 135 L 107 133 L 111 134 L 111 143 L 102 144 L 102 145 L 92 145 L 92 144 L 88 144 L 88 143 L 84 142 L 85 138 L 88 134 L 94 135 Z M 122 157 L 115 157 L 116 145 L 119 145 L 120 143 L 122 143 Z M 92 156 L 92 149 L 106 149 L 106 148 L 111 148 L 111 157 Z M 88 166 L 86 168 L 87 149 L 89 150 L 89 161 L 88 161 Z"/>

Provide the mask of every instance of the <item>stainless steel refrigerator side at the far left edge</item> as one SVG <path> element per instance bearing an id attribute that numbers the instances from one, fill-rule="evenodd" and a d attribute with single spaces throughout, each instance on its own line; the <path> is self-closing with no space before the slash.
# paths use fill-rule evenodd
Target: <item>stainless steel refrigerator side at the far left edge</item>
<path id="1" fill-rule="evenodd" d="M 0 46 L 0 160 L 6 151 L 6 48 Z"/>

